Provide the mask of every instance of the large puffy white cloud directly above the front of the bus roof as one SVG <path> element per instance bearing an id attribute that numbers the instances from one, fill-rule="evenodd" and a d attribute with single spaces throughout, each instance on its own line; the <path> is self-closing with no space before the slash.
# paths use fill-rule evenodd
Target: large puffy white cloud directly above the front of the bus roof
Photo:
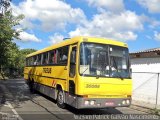
<path id="1" fill-rule="evenodd" d="M 141 17 L 134 12 L 125 11 L 120 14 L 104 12 L 93 17 L 92 21 L 86 22 L 82 27 L 71 31 L 71 37 L 77 35 L 101 36 L 117 40 L 136 40 L 135 31 L 143 29 Z"/>

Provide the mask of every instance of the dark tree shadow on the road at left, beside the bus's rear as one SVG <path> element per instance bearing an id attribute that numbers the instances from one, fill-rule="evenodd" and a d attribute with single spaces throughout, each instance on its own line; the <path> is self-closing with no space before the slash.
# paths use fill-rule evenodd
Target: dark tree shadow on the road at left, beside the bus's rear
<path id="1" fill-rule="evenodd" d="M 37 94 L 31 94 L 27 84 L 22 79 L 0 81 L 0 90 L 1 104 L 9 101 L 15 105 L 15 108 L 19 107 L 25 101 L 39 96 Z"/>

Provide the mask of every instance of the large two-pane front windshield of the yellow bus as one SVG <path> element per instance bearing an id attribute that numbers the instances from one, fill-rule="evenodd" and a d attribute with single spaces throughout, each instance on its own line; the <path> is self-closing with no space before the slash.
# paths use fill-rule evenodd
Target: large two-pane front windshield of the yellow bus
<path id="1" fill-rule="evenodd" d="M 82 43 L 80 75 L 130 78 L 128 49 L 124 47 Z"/>

